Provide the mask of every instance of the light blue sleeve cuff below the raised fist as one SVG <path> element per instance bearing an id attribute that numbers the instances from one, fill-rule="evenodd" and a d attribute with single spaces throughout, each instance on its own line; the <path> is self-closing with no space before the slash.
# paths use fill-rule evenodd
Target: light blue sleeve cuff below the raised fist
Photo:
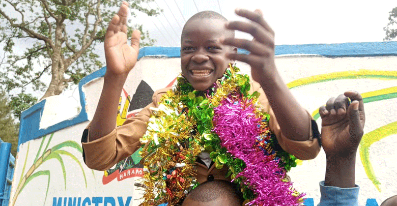
<path id="1" fill-rule="evenodd" d="M 349 205 L 358 206 L 358 192 L 360 187 L 355 185 L 352 188 L 339 188 L 325 186 L 324 181 L 320 182 L 320 203 L 317 206 Z"/>

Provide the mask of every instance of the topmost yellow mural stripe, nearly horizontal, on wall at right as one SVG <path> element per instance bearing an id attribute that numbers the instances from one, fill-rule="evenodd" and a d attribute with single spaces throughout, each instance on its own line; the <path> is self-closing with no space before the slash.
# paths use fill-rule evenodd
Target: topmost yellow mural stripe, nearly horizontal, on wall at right
<path id="1" fill-rule="evenodd" d="M 375 78 L 375 79 L 385 79 L 392 80 L 397 79 L 397 71 L 379 71 L 379 70 L 351 70 L 351 71 L 343 71 L 343 72 L 332 72 L 327 74 L 320 74 L 309 76 L 305 78 L 300 78 L 294 81 L 291 81 L 287 84 L 287 86 L 292 89 L 296 86 L 307 85 L 311 83 L 319 83 L 329 80 L 336 79 L 357 79 L 357 78 Z"/>

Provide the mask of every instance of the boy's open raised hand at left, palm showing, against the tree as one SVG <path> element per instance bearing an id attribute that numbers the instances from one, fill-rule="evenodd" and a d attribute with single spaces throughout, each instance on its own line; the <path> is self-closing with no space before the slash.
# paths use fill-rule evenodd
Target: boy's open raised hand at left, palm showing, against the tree
<path id="1" fill-rule="evenodd" d="M 106 72 L 114 75 L 127 75 L 138 58 L 140 32 L 135 30 L 131 45 L 127 44 L 128 7 L 128 3 L 123 2 L 109 22 L 105 35 Z"/>

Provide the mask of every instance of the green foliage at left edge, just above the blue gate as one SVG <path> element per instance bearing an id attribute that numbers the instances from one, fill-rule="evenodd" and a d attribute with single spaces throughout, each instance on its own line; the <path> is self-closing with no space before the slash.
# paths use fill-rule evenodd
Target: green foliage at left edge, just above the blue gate
<path id="1" fill-rule="evenodd" d="M 18 146 L 18 128 L 11 116 L 12 107 L 7 102 L 5 92 L 0 92 L 0 138 L 12 143 L 11 154 L 15 157 Z"/>

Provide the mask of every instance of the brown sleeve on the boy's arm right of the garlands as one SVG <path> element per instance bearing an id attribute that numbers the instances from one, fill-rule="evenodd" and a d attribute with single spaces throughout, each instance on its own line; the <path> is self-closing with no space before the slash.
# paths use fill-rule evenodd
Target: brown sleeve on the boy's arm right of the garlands
<path id="1" fill-rule="evenodd" d="M 280 126 L 277 122 L 276 116 L 270 107 L 269 100 L 263 92 L 261 85 L 258 82 L 252 81 L 251 91 L 257 91 L 261 95 L 259 101 L 263 107 L 263 111 L 270 115 L 269 128 L 276 135 L 278 143 L 281 148 L 286 152 L 294 155 L 296 158 L 301 160 L 314 159 L 320 152 L 320 132 L 318 130 L 316 121 L 311 119 L 311 115 L 307 112 L 307 119 L 302 121 L 308 121 L 310 125 L 310 132 L 305 141 L 291 140 L 281 133 Z"/>

